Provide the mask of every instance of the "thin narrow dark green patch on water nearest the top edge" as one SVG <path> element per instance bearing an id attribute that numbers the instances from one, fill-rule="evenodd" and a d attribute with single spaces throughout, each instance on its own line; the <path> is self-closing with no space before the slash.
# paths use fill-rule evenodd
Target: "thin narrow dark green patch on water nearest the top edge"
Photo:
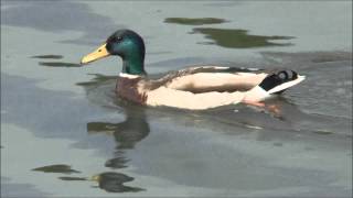
<path id="1" fill-rule="evenodd" d="M 164 23 L 175 23 L 182 25 L 203 25 L 203 24 L 220 24 L 227 22 L 218 18 L 167 18 Z"/>

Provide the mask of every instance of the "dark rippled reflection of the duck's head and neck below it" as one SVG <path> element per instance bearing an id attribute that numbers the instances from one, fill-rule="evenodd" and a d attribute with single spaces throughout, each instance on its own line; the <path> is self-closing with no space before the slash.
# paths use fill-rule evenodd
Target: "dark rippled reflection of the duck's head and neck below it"
<path id="1" fill-rule="evenodd" d="M 106 167 L 113 169 L 127 167 L 128 158 L 125 157 L 126 150 L 131 150 L 135 145 L 145 139 L 150 128 L 146 120 L 145 110 L 138 111 L 133 107 L 126 107 L 126 120 L 119 123 L 110 122 L 89 122 L 87 123 L 88 133 L 108 133 L 111 134 L 117 143 L 115 157 L 105 163 Z M 106 172 L 94 176 L 94 180 L 98 182 L 98 186 L 110 193 L 141 191 L 142 188 L 125 186 L 124 183 L 133 180 L 121 173 Z"/>

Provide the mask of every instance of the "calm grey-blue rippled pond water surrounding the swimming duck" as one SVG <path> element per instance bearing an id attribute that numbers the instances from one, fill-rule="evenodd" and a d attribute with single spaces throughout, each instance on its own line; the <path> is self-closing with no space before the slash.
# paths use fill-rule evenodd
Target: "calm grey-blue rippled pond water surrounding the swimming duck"
<path id="1" fill-rule="evenodd" d="M 351 197 L 352 2 L 1 1 L 1 196 Z M 267 101 L 207 111 L 115 97 L 121 61 L 81 57 L 114 31 L 146 68 L 291 68 Z"/>

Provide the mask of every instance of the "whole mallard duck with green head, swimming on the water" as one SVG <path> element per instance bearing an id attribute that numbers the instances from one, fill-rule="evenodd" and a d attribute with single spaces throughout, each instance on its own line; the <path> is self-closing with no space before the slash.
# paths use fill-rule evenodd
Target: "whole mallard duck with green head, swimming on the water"
<path id="1" fill-rule="evenodd" d="M 145 42 L 131 30 L 118 30 L 106 43 L 84 56 L 82 64 L 117 55 L 122 70 L 117 79 L 119 97 L 147 106 L 204 110 L 232 103 L 261 105 L 304 79 L 293 70 L 265 72 L 221 66 L 199 66 L 149 79 L 145 70 Z"/>

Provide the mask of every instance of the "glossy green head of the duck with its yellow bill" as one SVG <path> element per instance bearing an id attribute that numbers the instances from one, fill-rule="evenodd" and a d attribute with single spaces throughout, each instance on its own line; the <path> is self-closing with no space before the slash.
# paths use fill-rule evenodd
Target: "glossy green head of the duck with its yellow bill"
<path id="1" fill-rule="evenodd" d="M 105 44 L 93 53 L 84 56 L 82 64 L 87 64 L 103 57 L 117 55 L 122 58 L 122 73 L 145 75 L 145 43 L 140 35 L 130 30 L 119 30 L 111 34 Z"/>

